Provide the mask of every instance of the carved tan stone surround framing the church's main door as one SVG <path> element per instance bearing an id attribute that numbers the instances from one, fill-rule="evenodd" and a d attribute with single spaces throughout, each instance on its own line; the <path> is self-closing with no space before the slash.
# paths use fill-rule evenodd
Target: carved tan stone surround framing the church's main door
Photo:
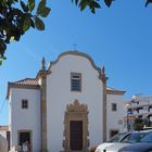
<path id="1" fill-rule="evenodd" d="M 72 121 L 83 122 L 83 149 L 75 151 L 71 148 L 71 126 Z M 89 131 L 88 131 L 88 106 L 87 104 L 80 104 L 78 100 L 75 100 L 73 104 L 66 106 L 64 114 L 64 152 L 89 152 Z"/>

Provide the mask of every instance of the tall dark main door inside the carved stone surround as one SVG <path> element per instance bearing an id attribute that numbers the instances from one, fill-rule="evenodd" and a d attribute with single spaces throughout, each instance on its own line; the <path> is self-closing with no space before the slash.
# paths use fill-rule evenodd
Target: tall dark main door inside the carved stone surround
<path id="1" fill-rule="evenodd" d="M 83 150 L 83 121 L 71 121 L 69 134 L 71 149 L 73 151 Z"/>

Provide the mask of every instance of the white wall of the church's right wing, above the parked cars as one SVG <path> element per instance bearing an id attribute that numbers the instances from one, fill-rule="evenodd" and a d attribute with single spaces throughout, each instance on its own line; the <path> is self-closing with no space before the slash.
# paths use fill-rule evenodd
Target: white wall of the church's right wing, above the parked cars
<path id="1" fill-rule="evenodd" d="M 119 94 L 107 94 L 106 96 L 106 106 L 107 106 L 107 130 L 106 137 L 110 139 L 111 130 L 118 130 L 119 132 L 124 131 L 124 116 L 126 114 L 125 111 L 125 100 L 124 96 Z M 123 102 L 124 101 L 124 102 Z M 116 103 L 117 111 L 112 111 L 112 104 Z"/>

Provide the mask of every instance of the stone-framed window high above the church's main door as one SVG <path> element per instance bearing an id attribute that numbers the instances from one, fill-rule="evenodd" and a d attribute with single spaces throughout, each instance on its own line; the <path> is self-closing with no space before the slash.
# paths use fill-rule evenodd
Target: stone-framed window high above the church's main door
<path id="1" fill-rule="evenodd" d="M 81 74 L 80 73 L 71 74 L 71 90 L 81 91 Z"/>

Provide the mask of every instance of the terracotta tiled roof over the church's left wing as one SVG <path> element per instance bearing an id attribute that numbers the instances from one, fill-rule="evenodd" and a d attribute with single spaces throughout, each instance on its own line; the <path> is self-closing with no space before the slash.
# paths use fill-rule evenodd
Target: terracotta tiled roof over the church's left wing
<path id="1" fill-rule="evenodd" d="M 18 81 L 13 83 L 15 85 L 25 85 L 25 86 L 39 86 L 36 78 L 25 78 Z"/>

